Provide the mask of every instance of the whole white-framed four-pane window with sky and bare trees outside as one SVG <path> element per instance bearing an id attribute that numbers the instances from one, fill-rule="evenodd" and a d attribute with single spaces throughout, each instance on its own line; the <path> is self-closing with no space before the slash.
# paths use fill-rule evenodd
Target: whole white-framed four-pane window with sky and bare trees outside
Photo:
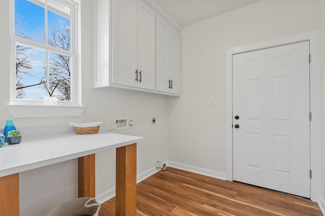
<path id="1" fill-rule="evenodd" d="M 10 104 L 78 106 L 78 41 L 75 1 L 11 2 Z"/>

